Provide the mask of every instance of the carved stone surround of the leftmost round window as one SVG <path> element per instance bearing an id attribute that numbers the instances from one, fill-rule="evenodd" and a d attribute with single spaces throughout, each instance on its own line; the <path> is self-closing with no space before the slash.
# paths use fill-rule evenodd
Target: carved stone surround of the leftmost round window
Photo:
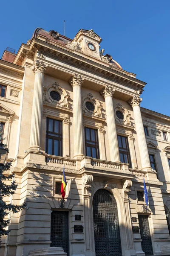
<path id="1" fill-rule="evenodd" d="M 44 87 L 43 88 L 43 101 L 44 102 L 49 102 L 51 104 L 60 106 L 60 107 L 64 107 L 64 108 L 68 108 L 68 99 L 70 98 L 70 96 L 68 95 L 68 93 L 66 92 L 66 90 L 64 88 L 62 88 L 58 82 L 55 82 L 54 84 L 50 84 L 48 85 L 48 87 Z M 51 98 L 51 92 L 57 92 L 59 93 L 59 95 L 61 96 L 61 98 L 59 100 L 54 100 Z"/>

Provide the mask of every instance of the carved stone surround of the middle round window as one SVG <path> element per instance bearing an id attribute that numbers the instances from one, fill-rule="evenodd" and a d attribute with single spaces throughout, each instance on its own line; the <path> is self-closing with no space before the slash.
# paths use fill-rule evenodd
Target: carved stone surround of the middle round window
<path id="1" fill-rule="evenodd" d="M 86 102 L 91 102 L 91 104 L 93 104 L 94 111 L 89 110 L 87 108 Z M 100 103 L 97 99 L 95 99 L 91 93 L 88 93 L 88 95 L 82 98 L 82 112 L 93 115 L 93 116 L 102 117 L 101 109 L 102 109 L 102 103 Z"/>

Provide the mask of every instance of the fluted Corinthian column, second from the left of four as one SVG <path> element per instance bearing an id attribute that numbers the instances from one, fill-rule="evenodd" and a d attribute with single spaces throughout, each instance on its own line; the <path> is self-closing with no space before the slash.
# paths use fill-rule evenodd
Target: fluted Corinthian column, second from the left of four
<path id="1" fill-rule="evenodd" d="M 73 86 L 73 126 L 74 126 L 74 157 L 82 157 L 83 133 L 82 133 L 82 97 L 81 85 L 84 78 L 74 74 L 70 84 Z"/>

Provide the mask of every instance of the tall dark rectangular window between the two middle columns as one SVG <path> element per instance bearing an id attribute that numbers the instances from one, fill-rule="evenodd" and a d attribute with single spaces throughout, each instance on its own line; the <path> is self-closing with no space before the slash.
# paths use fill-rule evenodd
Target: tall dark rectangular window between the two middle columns
<path id="1" fill-rule="evenodd" d="M 85 154 L 99 159 L 99 141 L 96 129 L 85 127 Z"/>

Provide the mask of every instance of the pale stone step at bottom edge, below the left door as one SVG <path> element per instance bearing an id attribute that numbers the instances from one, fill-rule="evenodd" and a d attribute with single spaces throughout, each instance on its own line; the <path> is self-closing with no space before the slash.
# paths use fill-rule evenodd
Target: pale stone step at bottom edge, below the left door
<path id="1" fill-rule="evenodd" d="M 28 256 L 67 256 L 62 247 L 48 247 L 36 250 L 30 250 Z"/>

